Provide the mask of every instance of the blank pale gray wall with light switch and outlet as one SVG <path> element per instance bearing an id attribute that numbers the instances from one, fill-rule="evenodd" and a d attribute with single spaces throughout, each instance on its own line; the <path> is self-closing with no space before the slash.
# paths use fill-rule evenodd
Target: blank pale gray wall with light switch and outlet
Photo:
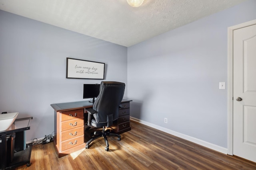
<path id="1" fill-rule="evenodd" d="M 256 19 L 255 8 L 249 0 L 128 47 L 131 116 L 227 148 L 227 28 Z"/>

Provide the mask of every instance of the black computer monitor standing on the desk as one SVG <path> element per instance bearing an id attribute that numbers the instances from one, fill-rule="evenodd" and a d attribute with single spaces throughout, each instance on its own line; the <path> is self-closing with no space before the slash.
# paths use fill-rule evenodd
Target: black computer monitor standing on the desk
<path id="1" fill-rule="evenodd" d="M 84 94 L 83 98 L 92 98 L 94 102 L 94 98 L 98 97 L 100 93 L 100 84 L 84 84 Z"/>

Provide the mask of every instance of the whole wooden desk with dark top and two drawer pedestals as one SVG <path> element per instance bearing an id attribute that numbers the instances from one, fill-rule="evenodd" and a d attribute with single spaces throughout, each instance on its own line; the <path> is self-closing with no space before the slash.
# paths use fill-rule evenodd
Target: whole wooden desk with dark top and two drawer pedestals
<path id="1" fill-rule="evenodd" d="M 124 133 L 131 130 L 130 127 L 130 102 L 122 100 L 124 106 L 119 111 L 119 117 L 113 122 L 114 133 Z M 85 108 L 92 107 L 89 101 L 68 102 L 51 104 L 54 109 L 54 143 L 57 154 L 60 157 L 85 148 L 84 140 L 84 114 Z M 87 121 L 86 121 L 87 123 Z"/>

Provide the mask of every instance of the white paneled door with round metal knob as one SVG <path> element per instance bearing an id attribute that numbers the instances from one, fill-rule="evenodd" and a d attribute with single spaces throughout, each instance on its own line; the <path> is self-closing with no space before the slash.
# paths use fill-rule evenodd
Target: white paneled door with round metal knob
<path id="1" fill-rule="evenodd" d="M 234 30 L 233 42 L 233 153 L 256 162 L 256 25 Z"/>

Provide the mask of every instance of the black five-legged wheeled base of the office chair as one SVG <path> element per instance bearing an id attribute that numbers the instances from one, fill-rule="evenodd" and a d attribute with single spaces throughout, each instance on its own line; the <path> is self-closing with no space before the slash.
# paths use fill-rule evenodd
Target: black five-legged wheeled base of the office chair
<path id="1" fill-rule="evenodd" d="M 106 130 L 105 131 L 105 127 L 102 128 L 102 131 L 95 131 L 92 135 L 92 138 L 86 142 L 86 146 L 85 148 L 88 149 L 90 143 L 92 143 L 93 141 L 95 141 L 96 139 L 98 139 L 99 137 L 104 137 L 105 143 L 106 143 L 106 148 L 105 150 L 108 151 L 109 150 L 109 144 L 108 144 L 108 139 L 107 136 L 116 136 L 118 137 L 117 140 L 120 141 L 121 140 L 121 136 L 119 134 L 116 133 L 110 133 L 110 130 Z"/>

